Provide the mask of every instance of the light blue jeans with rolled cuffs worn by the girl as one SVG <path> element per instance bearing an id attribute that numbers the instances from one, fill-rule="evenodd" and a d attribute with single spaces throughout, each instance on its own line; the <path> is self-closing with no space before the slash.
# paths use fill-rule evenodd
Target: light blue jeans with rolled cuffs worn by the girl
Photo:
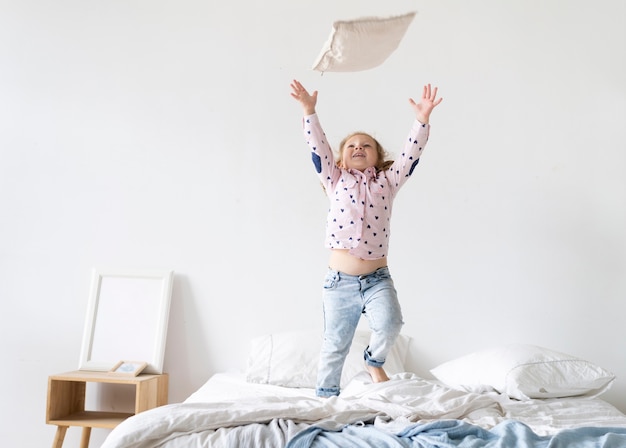
<path id="1" fill-rule="evenodd" d="M 361 314 L 372 331 L 363 357 L 370 366 L 382 367 L 400 334 L 402 310 L 384 267 L 367 275 L 347 275 L 329 269 L 324 279 L 324 342 L 317 373 L 316 394 L 339 395 L 341 372 Z"/>

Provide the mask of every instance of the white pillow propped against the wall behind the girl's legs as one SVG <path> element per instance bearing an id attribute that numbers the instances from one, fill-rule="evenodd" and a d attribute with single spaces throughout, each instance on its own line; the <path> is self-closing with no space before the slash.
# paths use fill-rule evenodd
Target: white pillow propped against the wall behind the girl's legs
<path id="1" fill-rule="evenodd" d="M 341 387 L 365 370 L 363 351 L 369 344 L 370 333 L 358 330 L 346 357 Z M 400 335 L 385 361 L 385 371 L 392 375 L 405 371 L 404 363 L 410 338 Z M 273 384 L 284 387 L 314 388 L 322 335 L 319 331 L 269 334 L 251 342 L 246 380 L 250 383 Z"/>

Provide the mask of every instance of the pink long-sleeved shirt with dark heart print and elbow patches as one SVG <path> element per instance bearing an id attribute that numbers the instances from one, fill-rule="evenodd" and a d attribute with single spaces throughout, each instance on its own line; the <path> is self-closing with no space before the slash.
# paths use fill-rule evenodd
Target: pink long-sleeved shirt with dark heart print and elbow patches
<path id="1" fill-rule="evenodd" d="M 415 120 L 393 165 L 385 171 L 371 167 L 361 172 L 339 168 L 317 114 L 304 117 L 313 164 L 330 200 L 326 247 L 348 249 L 364 260 L 387 256 L 393 199 L 413 174 L 429 130 L 429 125 Z"/>

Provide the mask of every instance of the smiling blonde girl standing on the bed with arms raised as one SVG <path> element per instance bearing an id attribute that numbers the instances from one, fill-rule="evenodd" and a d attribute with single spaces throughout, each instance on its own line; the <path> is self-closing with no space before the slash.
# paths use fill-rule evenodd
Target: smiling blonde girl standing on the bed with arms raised
<path id="1" fill-rule="evenodd" d="M 319 179 L 330 199 L 326 246 L 330 251 L 324 279 L 324 342 L 316 394 L 339 395 L 341 372 L 361 314 L 372 331 L 363 357 L 375 383 L 389 377 L 383 364 L 402 328 L 402 312 L 387 268 L 393 199 L 419 162 L 433 109 L 441 103 L 437 88 L 424 86 L 419 103 L 409 99 L 416 121 L 394 161 L 370 135 L 357 132 L 339 145 L 339 159 L 320 126 L 312 94 L 294 80 L 291 96 L 304 112 L 304 135 Z"/>

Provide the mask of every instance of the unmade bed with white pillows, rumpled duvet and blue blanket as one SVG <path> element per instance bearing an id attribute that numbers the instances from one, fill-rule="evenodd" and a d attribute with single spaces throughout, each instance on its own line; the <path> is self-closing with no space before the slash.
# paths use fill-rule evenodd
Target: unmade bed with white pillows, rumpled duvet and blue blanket
<path id="1" fill-rule="evenodd" d="M 507 345 L 422 378 L 405 371 L 401 336 L 390 381 L 374 384 L 367 338 L 355 337 L 338 397 L 315 397 L 315 334 L 267 335 L 252 341 L 245 372 L 215 374 L 184 402 L 127 419 L 103 448 L 626 447 L 626 415 L 600 397 L 615 377 L 591 362 Z"/>

